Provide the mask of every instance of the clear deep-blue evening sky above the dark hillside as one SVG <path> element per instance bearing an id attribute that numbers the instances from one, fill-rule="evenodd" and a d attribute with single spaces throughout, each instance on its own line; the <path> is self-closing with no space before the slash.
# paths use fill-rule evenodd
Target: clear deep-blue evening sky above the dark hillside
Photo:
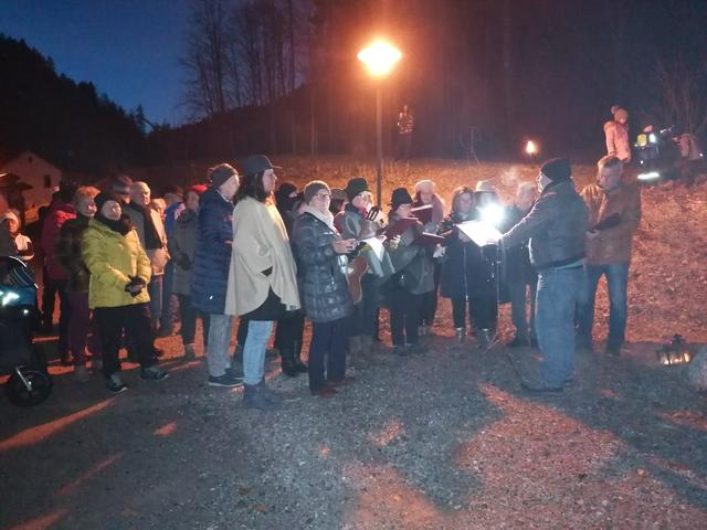
<path id="1" fill-rule="evenodd" d="M 24 39 L 72 80 L 127 110 L 178 124 L 187 0 L 0 0 L 0 33 Z"/>

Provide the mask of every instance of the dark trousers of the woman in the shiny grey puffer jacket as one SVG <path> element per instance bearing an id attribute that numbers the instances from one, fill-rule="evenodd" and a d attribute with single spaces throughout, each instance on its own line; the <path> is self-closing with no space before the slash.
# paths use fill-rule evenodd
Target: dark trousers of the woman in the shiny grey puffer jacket
<path id="1" fill-rule="evenodd" d="M 309 344 L 309 389 L 324 388 L 326 380 L 341 381 L 346 374 L 347 318 L 331 322 L 312 322 Z M 324 365 L 326 358 L 326 378 Z"/>

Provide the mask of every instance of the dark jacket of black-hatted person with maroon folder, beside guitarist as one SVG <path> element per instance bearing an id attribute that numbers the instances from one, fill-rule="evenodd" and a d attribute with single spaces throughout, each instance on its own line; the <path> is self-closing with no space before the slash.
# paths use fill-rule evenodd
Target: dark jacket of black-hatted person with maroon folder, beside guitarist
<path id="1" fill-rule="evenodd" d="M 400 218 L 392 213 L 388 226 L 392 227 Z M 422 295 L 434 290 L 434 265 L 428 250 L 413 245 L 415 237 L 422 233 L 423 226 L 416 223 L 400 235 L 398 244 L 388 244 L 388 252 L 395 273 L 391 282 L 398 282 L 413 295 Z"/>

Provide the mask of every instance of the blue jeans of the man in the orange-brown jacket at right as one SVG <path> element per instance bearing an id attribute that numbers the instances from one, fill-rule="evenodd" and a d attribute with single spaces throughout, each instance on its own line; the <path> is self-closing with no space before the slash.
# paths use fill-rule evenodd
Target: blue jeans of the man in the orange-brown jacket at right
<path id="1" fill-rule="evenodd" d="M 609 287 L 609 338 L 606 348 L 621 348 L 626 331 L 629 316 L 626 288 L 629 286 L 629 264 L 587 265 L 585 283 L 579 304 L 578 335 L 591 341 L 594 325 L 594 300 L 599 279 L 606 276 Z"/>

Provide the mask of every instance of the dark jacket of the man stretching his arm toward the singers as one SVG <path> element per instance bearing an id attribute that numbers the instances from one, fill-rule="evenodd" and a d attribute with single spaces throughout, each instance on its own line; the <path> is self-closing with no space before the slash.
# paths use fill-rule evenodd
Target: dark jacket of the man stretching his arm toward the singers
<path id="1" fill-rule="evenodd" d="M 530 263 L 537 269 L 562 267 L 584 258 L 589 214 L 571 180 L 552 182 L 532 210 L 500 239 L 504 248 L 530 240 Z"/>

